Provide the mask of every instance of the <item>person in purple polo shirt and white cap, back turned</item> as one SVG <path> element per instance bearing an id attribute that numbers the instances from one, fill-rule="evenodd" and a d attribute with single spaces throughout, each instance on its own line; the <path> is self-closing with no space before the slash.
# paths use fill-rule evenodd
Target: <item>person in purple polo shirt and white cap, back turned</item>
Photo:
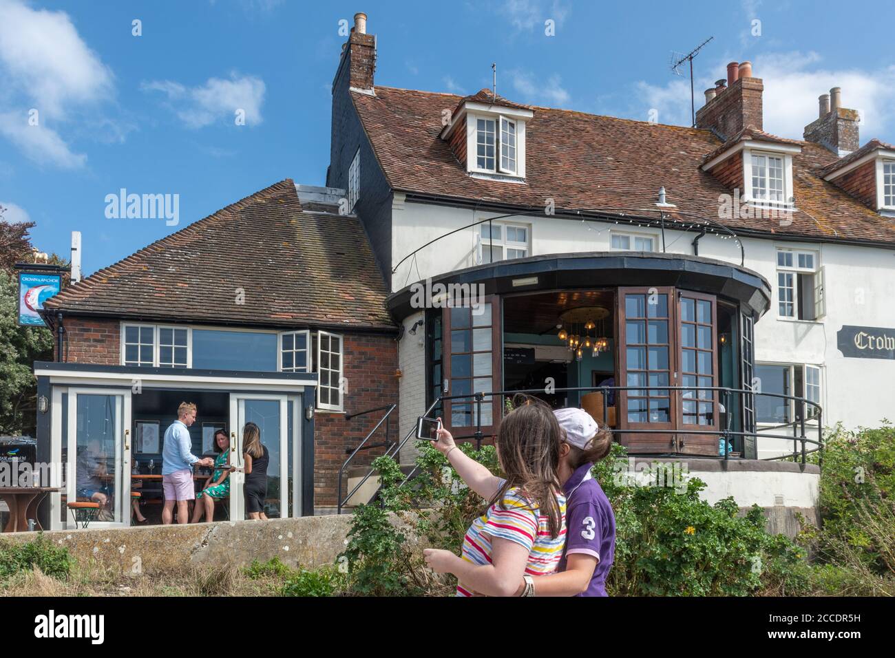
<path id="1" fill-rule="evenodd" d="M 564 432 L 559 481 L 566 494 L 566 548 L 558 573 L 534 579 L 534 596 L 606 596 L 615 553 L 615 515 L 591 467 L 609 454 L 612 433 L 583 409 L 557 409 Z M 524 583 L 516 590 L 524 591 Z M 530 594 L 531 595 L 531 594 Z"/>

